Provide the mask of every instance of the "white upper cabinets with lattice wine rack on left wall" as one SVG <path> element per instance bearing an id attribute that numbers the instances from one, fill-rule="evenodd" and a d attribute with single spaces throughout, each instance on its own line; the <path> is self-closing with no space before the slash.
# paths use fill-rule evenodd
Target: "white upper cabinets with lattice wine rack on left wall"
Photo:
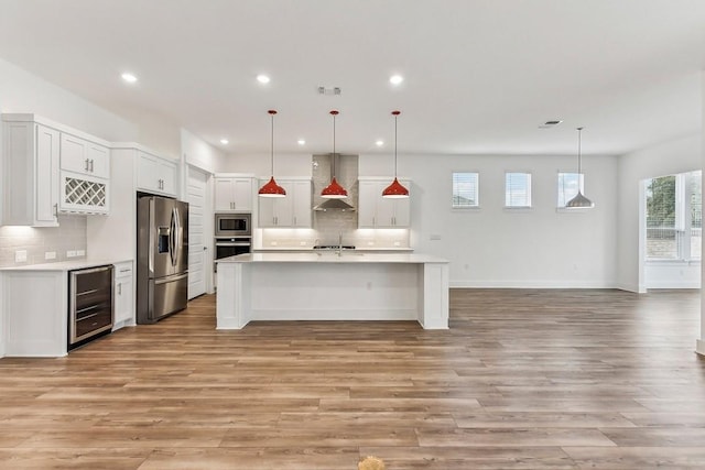
<path id="1" fill-rule="evenodd" d="M 2 114 L 3 225 L 58 226 L 59 212 L 108 214 L 108 143 L 34 114 Z"/>

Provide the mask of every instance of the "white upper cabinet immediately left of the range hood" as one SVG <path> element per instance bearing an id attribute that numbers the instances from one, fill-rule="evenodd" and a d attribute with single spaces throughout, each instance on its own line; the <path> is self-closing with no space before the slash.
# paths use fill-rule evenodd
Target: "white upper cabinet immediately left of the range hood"
<path id="1" fill-rule="evenodd" d="M 276 183 L 286 190 L 286 196 L 259 198 L 259 227 L 311 228 L 311 179 L 278 179 Z"/>

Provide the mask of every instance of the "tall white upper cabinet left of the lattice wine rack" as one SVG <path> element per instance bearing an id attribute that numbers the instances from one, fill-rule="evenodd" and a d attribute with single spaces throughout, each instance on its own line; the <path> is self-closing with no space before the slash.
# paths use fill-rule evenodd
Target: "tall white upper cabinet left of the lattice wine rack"
<path id="1" fill-rule="evenodd" d="M 3 116 L 2 225 L 57 227 L 59 132 Z"/>

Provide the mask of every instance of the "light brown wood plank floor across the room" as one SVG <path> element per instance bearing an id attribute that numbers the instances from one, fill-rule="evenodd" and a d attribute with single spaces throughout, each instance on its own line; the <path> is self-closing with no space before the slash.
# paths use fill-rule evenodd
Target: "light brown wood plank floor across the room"
<path id="1" fill-rule="evenodd" d="M 446 331 L 214 302 L 1 359 L 0 468 L 705 468 L 699 292 L 454 289 Z"/>

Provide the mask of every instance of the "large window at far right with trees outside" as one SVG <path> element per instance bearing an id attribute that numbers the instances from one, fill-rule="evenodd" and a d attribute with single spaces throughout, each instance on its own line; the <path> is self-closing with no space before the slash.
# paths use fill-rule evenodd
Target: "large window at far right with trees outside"
<path id="1" fill-rule="evenodd" d="M 647 179 L 647 260 L 699 260 L 702 172 Z"/>

